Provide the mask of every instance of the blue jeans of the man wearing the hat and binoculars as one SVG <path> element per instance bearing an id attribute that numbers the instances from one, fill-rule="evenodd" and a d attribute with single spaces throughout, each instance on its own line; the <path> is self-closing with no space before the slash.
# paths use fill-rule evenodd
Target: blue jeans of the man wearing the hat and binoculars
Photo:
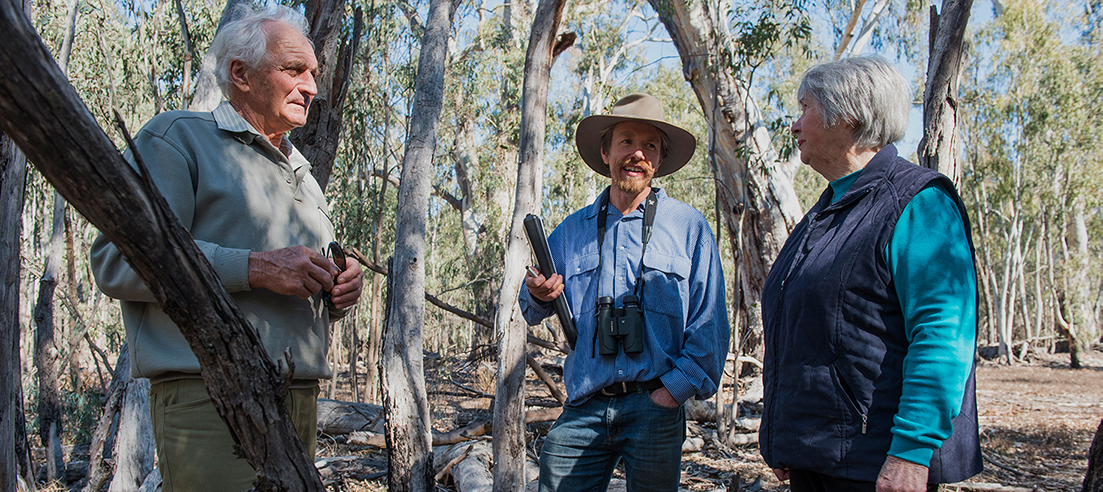
<path id="1" fill-rule="evenodd" d="M 682 406 L 655 404 L 650 392 L 568 406 L 544 440 L 539 491 L 604 491 L 620 458 L 630 492 L 677 491 L 685 423 Z"/>

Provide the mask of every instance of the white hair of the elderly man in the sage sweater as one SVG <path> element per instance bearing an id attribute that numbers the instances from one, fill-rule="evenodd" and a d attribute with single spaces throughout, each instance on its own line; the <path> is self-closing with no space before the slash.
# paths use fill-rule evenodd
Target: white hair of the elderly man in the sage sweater
<path id="1" fill-rule="evenodd" d="M 301 13 L 282 6 L 256 8 L 243 4 L 234 10 L 233 21 L 218 31 L 211 42 L 211 54 L 215 60 L 214 75 L 218 81 L 222 95 L 229 98 L 229 88 L 234 83 L 229 78 L 229 64 L 234 60 L 245 62 L 248 69 L 257 69 L 265 63 L 271 63 L 268 56 L 269 22 L 290 24 L 310 41 L 307 30 L 307 19 Z M 310 43 L 313 47 L 313 42 Z"/>

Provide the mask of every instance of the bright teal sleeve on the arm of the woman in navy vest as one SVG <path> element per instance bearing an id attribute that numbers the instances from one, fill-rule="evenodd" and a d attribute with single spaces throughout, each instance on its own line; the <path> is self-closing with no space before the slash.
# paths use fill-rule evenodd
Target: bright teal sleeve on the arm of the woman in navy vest
<path id="1" fill-rule="evenodd" d="M 904 317 L 908 354 L 889 454 L 929 466 L 961 410 L 976 342 L 976 270 L 964 221 L 941 182 L 897 222 L 885 257 Z"/>

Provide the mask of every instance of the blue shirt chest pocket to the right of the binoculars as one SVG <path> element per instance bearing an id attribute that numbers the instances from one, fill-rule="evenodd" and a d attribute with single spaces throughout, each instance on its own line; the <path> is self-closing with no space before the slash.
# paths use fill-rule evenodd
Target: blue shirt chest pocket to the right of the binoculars
<path id="1" fill-rule="evenodd" d="M 689 258 L 647 252 L 643 258 L 644 286 L 641 303 L 644 310 L 682 320 L 689 298 L 688 278 L 692 269 Z"/>

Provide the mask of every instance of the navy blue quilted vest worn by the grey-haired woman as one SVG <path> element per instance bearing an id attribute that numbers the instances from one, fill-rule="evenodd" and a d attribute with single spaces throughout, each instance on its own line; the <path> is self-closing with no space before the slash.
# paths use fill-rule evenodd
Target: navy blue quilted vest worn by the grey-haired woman
<path id="1" fill-rule="evenodd" d="M 778 255 L 762 291 L 765 413 L 759 440 L 771 467 L 877 480 L 908 350 L 885 248 L 904 206 L 935 180 L 951 190 L 967 229 L 953 183 L 898 157 L 890 145 L 838 201 L 829 203 L 831 189 L 825 191 Z M 931 460 L 930 483 L 981 471 L 974 373 L 953 435 Z"/>

